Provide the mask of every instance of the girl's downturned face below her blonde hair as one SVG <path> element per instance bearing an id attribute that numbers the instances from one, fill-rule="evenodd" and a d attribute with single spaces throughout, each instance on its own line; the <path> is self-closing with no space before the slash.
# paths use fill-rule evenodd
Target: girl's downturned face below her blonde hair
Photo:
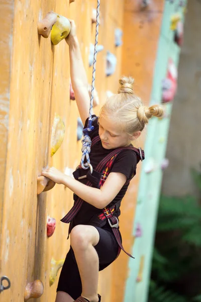
<path id="1" fill-rule="evenodd" d="M 128 146 L 131 142 L 131 135 L 122 132 L 117 123 L 114 123 L 107 115 L 100 116 L 98 134 L 105 149 L 115 149 Z"/>

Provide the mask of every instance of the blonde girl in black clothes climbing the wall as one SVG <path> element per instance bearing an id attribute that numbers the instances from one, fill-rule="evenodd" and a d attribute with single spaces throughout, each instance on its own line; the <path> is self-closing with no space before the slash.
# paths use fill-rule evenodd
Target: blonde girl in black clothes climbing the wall
<path id="1" fill-rule="evenodd" d="M 79 114 L 86 128 L 90 104 L 88 83 L 75 24 L 72 20 L 70 22 L 71 31 L 66 42 L 69 45 L 71 82 Z M 105 174 L 107 178 L 104 175 L 103 179 L 100 174 L 102 185 L 98 186 L 93 182 L 98 177 L 98 172 L 95 171 L 98 169 L 94 169 L 92 174 L 88 172 L 89 169 L 78 169 L 74 173 L 75 179 L 53 167 L 42 173 L 73 191 L 75 202 L 82 200 L 79 211 L 70 219 L 70 250 L 61 270 L 56 302 L 100 301 L 100 295 L 97 294 L 98 271 L 110 265 L 119 255 L 120 247 L 123 248 L 119 220 L 116 217 L 120 215 L 121 200 L 129 181 L 136 173 L 136 165 L 143 156 L 143 153 L 139 154 L 139 150 L 132 147 L 131 142 L 140 136 L 149 118 L 161 117 L 163 114 L 163 109 L 158 105 L 149 108 L 143 106 L 133 93 L 132 78 L 122 77 L 119 82 L 118 94 L 104 104 L 98 122 L 97 119 L 93 122 L 94 130 L 89 132 L 92 140 L 92 167 L 97 168 L 108 156 L 112 156 L 112 160 L 115 158 L 109 175 Z M 121 152 L 118 154 L 116 150 Z M 88 177 L 77 180 L 77 173 L 79 176 L 87 173 L 91 182 L 88 182 Z M 108 219 L 106 209 L 113 219 Z M 63 221 L 66 222 L 65 217 Z"/>

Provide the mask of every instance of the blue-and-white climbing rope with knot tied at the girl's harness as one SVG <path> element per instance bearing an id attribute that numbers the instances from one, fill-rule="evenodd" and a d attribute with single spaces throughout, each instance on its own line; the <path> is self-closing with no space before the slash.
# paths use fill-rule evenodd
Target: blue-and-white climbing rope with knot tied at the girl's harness
<path id="1" fill-rule="evenodd" d="M 92 83 L 91 83 L 91 97 L 90 97 L 90 107 L 89 107 L 89 117 L 87 127 L 83 129 L 84 137 L 82 139 L 82 157 L 81 157 L 81 167 L 82 169 L 88 169 L 90 167 L 90 171 L 92 166 L 90 164 L 89 153 L 91 146 L 91 139 L 88 135 L 89 131 L 94 129 L 92 122 L 96 118 L 92 118 L 92 109 L 93 109 L 93 94 L 94 94 L 94 83 L 95 83 L 95 64 L 96 64 L 96 55 L 97 55 L 97 38 L 98 38 L 98 26 L 99 26 L 99 7 L 100 0 L 97 0 L 97 8 L 96 8 L 96 26 L 95 26 L 95 44 L 94 44 L 94 53 L 93 53 L 93 71 L 92 71 Z M 86 163 L 84 164 L 84 160 L 86 159 Z"/>

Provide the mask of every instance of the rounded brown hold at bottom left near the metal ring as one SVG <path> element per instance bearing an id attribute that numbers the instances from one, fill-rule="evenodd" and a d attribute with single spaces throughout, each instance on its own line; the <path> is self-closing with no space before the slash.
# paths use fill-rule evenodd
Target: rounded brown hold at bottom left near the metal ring
<path id="1" fill-rule="evenodd" d="M 41 280 L 27 283 L 25 288 L 24 300 L 27 302 L 31 298 L 40 298 L 42 296 L 44 286 Z"/>

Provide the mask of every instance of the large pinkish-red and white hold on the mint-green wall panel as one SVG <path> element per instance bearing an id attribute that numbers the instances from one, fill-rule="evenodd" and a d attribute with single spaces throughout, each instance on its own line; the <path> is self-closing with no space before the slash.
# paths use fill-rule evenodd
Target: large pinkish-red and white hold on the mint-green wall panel
<path id="1" fill-rule="evenodd" d="M 173 101 L 177 89 L 177 69 L 172 59 L 169 59 L 166 78 L 162 81 L 162 102 Z"/>

